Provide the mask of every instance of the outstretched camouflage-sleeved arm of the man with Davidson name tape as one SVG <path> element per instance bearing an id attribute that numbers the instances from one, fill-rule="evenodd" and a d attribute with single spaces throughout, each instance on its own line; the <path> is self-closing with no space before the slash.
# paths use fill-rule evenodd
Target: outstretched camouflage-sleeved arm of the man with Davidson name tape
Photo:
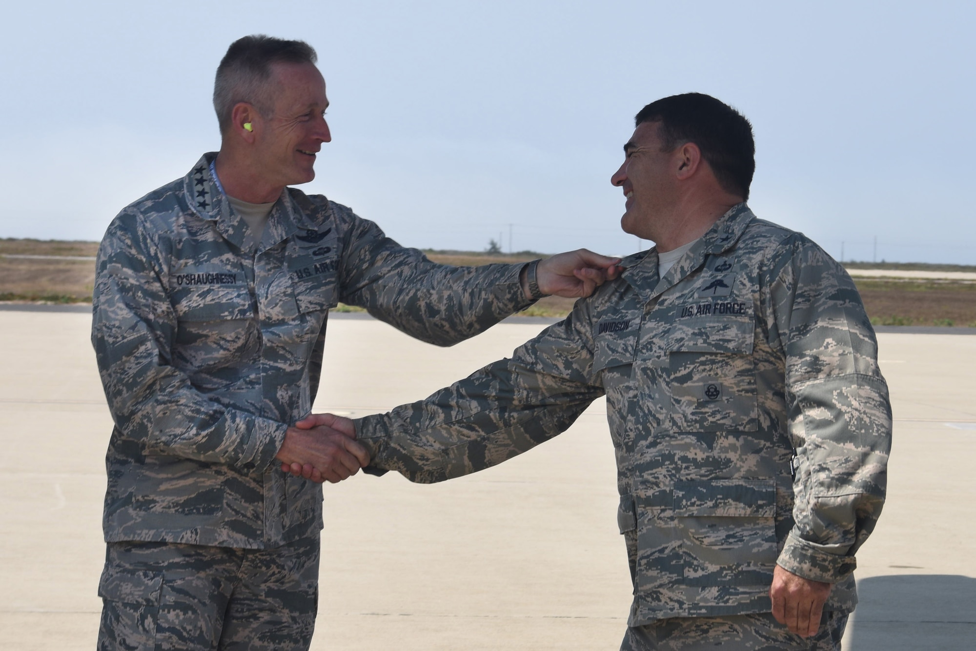
<path id="1" fill-rule="evenodd" d="M 566 430 L 596 398 L 584 307 L 426 401 L 357 422 L 371 465 L 415 481 L 474 473 Z"/>

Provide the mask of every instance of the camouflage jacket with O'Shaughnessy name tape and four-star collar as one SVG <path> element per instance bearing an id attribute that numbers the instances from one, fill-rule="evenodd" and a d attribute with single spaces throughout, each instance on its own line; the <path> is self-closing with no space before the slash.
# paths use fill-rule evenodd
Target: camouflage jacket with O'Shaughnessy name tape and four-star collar
<path id="1" fill-rule="evenodd" d="M 286 188 L 261 242 L 206 154 L 102 240 L 92 342 L 115 421 L 106 541 L 264 549 L 322 528 L 321 486 L 274 461 L 318 387 L 338 301 L 450 345 L 526 307 L 523 265 L 449 267 Z"/>

